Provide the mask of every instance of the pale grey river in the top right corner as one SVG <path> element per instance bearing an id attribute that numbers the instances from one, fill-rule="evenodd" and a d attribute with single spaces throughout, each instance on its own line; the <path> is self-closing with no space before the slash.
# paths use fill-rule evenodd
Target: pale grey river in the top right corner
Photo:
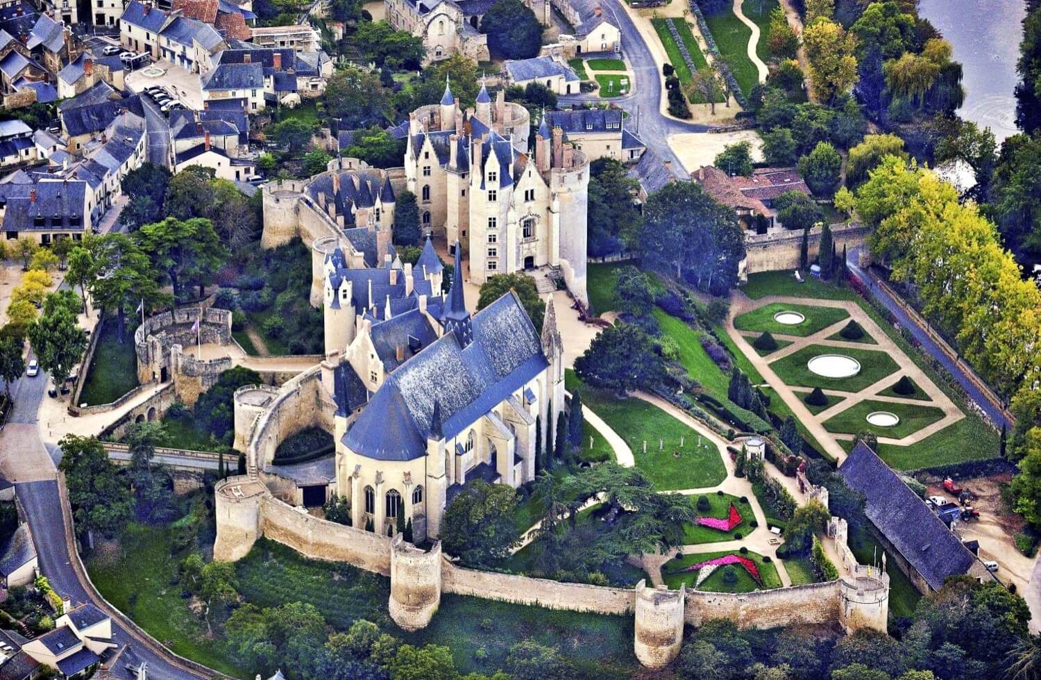
<path id="1" fill-rule="evenodd" d="M 998 144 L 1016 129 L 1016 60 L 1026 15 L 1023 0 L 919 0 L 964 67 L 965 104 L 959 115 L 989 126 Z"/>

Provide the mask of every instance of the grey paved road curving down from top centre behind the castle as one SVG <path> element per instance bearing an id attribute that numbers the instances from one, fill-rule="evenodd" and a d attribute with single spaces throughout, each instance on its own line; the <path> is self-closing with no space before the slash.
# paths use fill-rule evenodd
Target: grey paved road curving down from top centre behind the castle
<path id="1" fill-rule="evenodd" d="M 690 173 L 684 170 L 680 158 L 669 148 L 667 137 L 669 134 L 681 132 L 707 132 L 709 126 L 676 121 L 662 115 L 659 108 L 662 97 L 661 76 L 651 49 L 643 41 L 643 34 L 636 29 L 620 0 L 602 0 L 601 5 L 621 29 L 621 51 L 629 59 L 636 80 L 636 91 L 632 95 L 612 99 L 611 103 L 629 111 L 630 123 L 627 123 L 627 129 L 630 129 L 629 125 L 638 123 L 638 128 L 633 132 L 662 160 L 672 161 L 672 172 L 677 177 L 690 179 Z M 590 98 L 560 97 L 559 101 L 564 104 L 575 104 L 588 102 Z M 596 101 L 604 100 L 596 99 Z"/>

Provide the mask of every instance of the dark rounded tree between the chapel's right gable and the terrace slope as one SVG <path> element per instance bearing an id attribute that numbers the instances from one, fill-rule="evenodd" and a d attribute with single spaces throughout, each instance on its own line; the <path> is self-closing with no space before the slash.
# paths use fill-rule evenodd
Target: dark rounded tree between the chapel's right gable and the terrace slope
<path id="1" fill-rule="evenodd" d="M 575 372 L 582 380 L 619 394 L 640 389 L 664 376 L 665 366 L 651 337 L 636 325 L 617 323 L 596 333 Z"/>

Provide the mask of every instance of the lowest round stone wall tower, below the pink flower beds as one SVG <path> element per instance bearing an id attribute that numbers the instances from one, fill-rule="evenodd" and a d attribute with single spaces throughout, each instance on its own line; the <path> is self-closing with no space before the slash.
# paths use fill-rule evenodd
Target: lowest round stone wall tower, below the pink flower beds
<path id="1" fill-rule="evenodd" d="M 668 586 L 636 584 L 636 634 L 633 644 L 636 658 L 649 669 L 660 669 L 676 658 L 683 644 L 683 614 L 686 585 L 679 590 Z"/>

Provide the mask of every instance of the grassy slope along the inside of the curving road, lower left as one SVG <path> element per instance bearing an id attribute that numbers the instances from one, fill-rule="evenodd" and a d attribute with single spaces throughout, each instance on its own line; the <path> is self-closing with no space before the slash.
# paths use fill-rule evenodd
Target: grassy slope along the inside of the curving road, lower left
<path id="1" fill-rule="evenodd" d="M 229 659 L 219 640 L 207 637 L 206 623 L 188 609 L 180 586 L 171 584 L 186 554 L 172 554 L 173 531 L 129 525 L 121 558 L 86 560 L 91 580 L 117 609 L 177 654 L 234 678 L 253 677 Z"/>

